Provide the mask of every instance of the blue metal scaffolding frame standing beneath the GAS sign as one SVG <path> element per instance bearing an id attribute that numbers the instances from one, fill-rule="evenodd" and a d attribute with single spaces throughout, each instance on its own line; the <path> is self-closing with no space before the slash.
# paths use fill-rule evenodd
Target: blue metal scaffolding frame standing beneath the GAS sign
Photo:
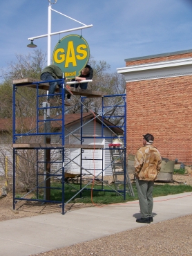
<path id="1" fill-rule="evenodd" d="M 55 80 L 55 82 L 62 82 L 64 85 L 65 85 L 65 79 L 61 79 L 61 80 Z M 49 81 L 46 81 L 46 83 L 49 82 Z M 39 99 L 42 98 L 42 97 L 46 97 L 47 94 L 41 94 L 39 95 L 39 86 L 41 86 L 41 84 L 43 84 L 45 82 L 30 82 L 30 86 L 32 86 L 33 88 L 36 89 L 36 127 L 35 129 L 32 129 L 31 131 L 28 131 L 28 132 L 24 132 L 24 133 L 17 133 L 17 130 L 16 130 L 16 120 L 17 120 L 17 116 L 16 116 L 16 108 L 15 108 L 15 98 L 16 98 L 16 92 L 17 92 L 17 89 L 19 86 L 28 86 L 29 84 L 28 83 L 21 83 L 21 84 L 13 84 L 13 104 L 12 104 L 12 113 L 13 113 L 13 122 L 12 122 L 12 143 L 14 145 L 13 147 L 13 209 L 15 209 L 15 205 L 17 203 L 17 201 L 21 201 L 21 200 L 24 200 L 24 201 L 40 201 L 42 203 L 47 203 L 47 202 L 51 202 L 51 203 L 60 203 L 61 204 L 61 209 L 62 209 L 62 214 L 65 213 L 65 205 L 66 203 L 68 203 L 69 201 L 73 200 L 73 198 L 75 196 L 77 196 L 77 194 L 80 193 L 80 196 L 81 196 L 81 192 L 82 190 L 90 190 L 90 188 L 86 188 L 90 182 L 88 182 L 86 185 L 82 185 L 82 170 L 84 169 L 82 167 L 82 152 L 83 152 L 83 146 L 81 147 L 81 175 L 80 175 L 80 190 L 77 192 L 77 194 L 75 194 L 75 196 L 73 196 L 70 200 L 68 200 L 67 202 L 65 202 L 65 146 L 66 146 L 66 141 L 65 141 L 65 105 L 64 105 L 64 99 L 65 99 L 65 93 L 66 93 L 66 87 L 63 86 L 63 89 L 62 89 L 62 99 L 63 99 L 63 102 L 62 102 L 62 105 L 59 106 L 59 107 L 50 107 L 49 105 L 47 105 L 46 103 L 46 107 L 43 105 L 43 107 L 39 107 Z M 59 95 L 59 93 L 58 93 Z M 104 102 L 106 99 L 108 98 L 114 98 L 114 97 L 121 97 L 123 99 L 123 102 L 124 104 L 120 104 L 120 105 L 115 105 L 115 106 L 108 106 L 106 105 Z M 81 100 L 80 100 L 80 103 L 81 103 L 81 125 L 80 125 L 80 134 L 81 134 L 81 138 L 80 138 L 80 143 L 81 145 L 83 145 L 83 141 L 84 141 L 84 138 L 93 138 L 93 136 L 86 136 L 84 137 L 84 132 L 83 132 L 83 129 L 84 129 L 84 125 L 83 125 L 83 112 L 84 112 L 84 101 L 86 100 L 87 97 L 84 97 L 84 96 L 81 96 Z M 105 110 L 106 109 L 109 109 L 109 108 L 121 108 L 121 109 L 124 109 L 123 113 L 121 116 L 107 116 L 106 113 L 105 113 Z M 61 110 L 61 117 L 62 118 L 44 118 L 44 120 L 42 120 L 42 118 L 39 118 L 39 111 L 50 111 L 50 109 L 55 109 L 55 108 L 59 108 Z M 108 112 L 108 111 L 106 111 Z M 47 112 L 46 112 L 47 113 Z M 124 124 L 123 125 L 120 125 L 120 126 L 107 126 L 106 123 L 104 122 L 104 119 L 106 118 L 123 118 L 124 119 Z M 126 94 L 120 94 L 120 95 L 104 95 L 102 96 L 102 113 L 100 115 L 97 115 L 95 116 L 95 118 L 99 118 L 99 122 L 102 123 L 102 135 L 101 136 L 97 136 L 97 138 L 108 138 L 108 139 L 111 139 L 111 141 L 114 139 L 114 138 L 119 138 L 123 141 L 123 144 L 124 144 L 124 147 L 121 148 L 123 154 L 124 154 L 124 172 L 126 172 Z M 57 132 L 47 132 L 44 131 L 42 132 L 41 131 L 41 127 L 45 124 L 50 124 L 50 122 L 61 122 L 61 131 L 57 131 Z M 42 125 L 43 124 L 43 125 Z M 114 127 L 118 127 L 118 128 L 121 128 L 124 130 L 124 136 L 118 136 L 117 134 L 115 134 L 115 136 L 109 136 L 109 137 L 105 137 L 104 136 L 104 129 L 113 129 Z M 48 136 L 48 138 L 50 138 L 51 135 L 57 135 L 57 136 L 60 136 L 61 137 L 61 145 L 57 145 L 57 149 L 59 149 L 61 151 L 61 161 L 58 162 L 58 163 L 61 163 L 62 167 L 62 171 L 57 173 L 51 173 L 51 172 L 46 172 L 46 170 L 44 170 L 44 173 L 42 172 L 39 172 L 39 163 L 44 163 L 44 165 L 46 164 L 51 164 L 51 163 L 55 163 L 54 161 L 47 161 L 46 158 L 44 158 L 44 161 L 41 161 L 39 160 L 39 150 L 42 150 L 44 149 L 45 151 L 49 151 L 49 154 L 51 154 L 51 150 L 52 149 L 55 149 L 55 145 L 52 146 L 52 143 L 48 140 L 48 143 L 45 143 L 41 145 L 33 145 L 32 147 L 28 147 L 28 146 L 24 146 L 24 147 L 21 147 L 21 145 L 18 143 L 18 140 L 20 138 L 26 138 L 28 136 Z M 38 144 L 38 143 L 37 143 Z M 28 145 L 30 145 L 30 143 L 28 143 Z M 20 149 L 27 149 L 27 150 L 30 150 L 30 149 L 34 149 L 36 151 L 36 187 L 34 189 L 32 189 L 30 192 L 32 191 L 35 191 L 36 192 L 36 199 L 28 199 L 26 198 L 26 195 L 28 195 L 29 193 L 25 194 L 23 197 L 17 197 L 16 196 L 16 191 L 15 191 L 15 188 L 16 188 L 16 174 L 17 174 L 17 154 L 19 152 Z M 118 194 L 122 194 L 124 196 L 124 199 L 126 199 L 126 192 L 127 192 L 127 188 L 126 188 L 126 173 L 124 173 L 124 190 L 115 190 L 113 189 L 110 185 L 108 185 L 109 188 L 111 188 L 110 190 L 106 190 L 104 189 L 104 166 L 103 166 L 103 156 L 104 156 L 104 150 L 111 150 L 109 147 L 108 148 L 104 148 L 102 149 L 102 170 L 99 170 L 99 174 L 102 174 L 102 179 L 99 179 L 100 181 L 102 181 L 102 189 L 101 190 L 96 190 L 93 188 L 93 190 L 95 191 L 106 191 L 106 192 L 117 192 Z M 46 154 L 44 152 L 44 154 Z M 73 160 L 71 160 L 73 161 Z M 70 163 L 70 162 L 69 162 Z M 42 169 L 42 168 L 41 168 Z M 46 169 L 46 167 L 45 167 Z M 106 168 L 105 168 L 106 169 Z M 91 170 L 86 170 L 87 172 L 91 173 Z M 101 171 L 101 172 L 100 172 Z M 43 176 L 44 177 L 44 182 L 40 182 L 39 183 L 39 177 Z M 59 188 L 52 188 L 51 186 L 50 187 L 47 187 L 45 181 L 50 181 L 50 178 L 51 177 L 57 177 L 57 178 L 61 178 L 61 201 L 52 201 L 50 199 L 47 199 L 45 197 L 45 194 L 44 194 L 44 199 L 39 199 L 39 190 L 40 189 L 44 189 L 44 192 L 45 190 L 58 190 Z M 99 175 L 97 175 L 99 176 Z M 94 176 L 94 179 L 98 178 L 97 176 Z M 42 185 L 42 183 L 44 183 L 44 185 Z M 132 196 L 134 196 L 134 194 L 132 194 Z"/>

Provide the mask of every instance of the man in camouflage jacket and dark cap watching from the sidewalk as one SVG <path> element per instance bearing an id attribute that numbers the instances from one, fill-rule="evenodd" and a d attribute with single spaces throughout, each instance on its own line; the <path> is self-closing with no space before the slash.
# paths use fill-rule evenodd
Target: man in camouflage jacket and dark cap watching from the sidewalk
<path id="1" fill-rule="evenodd" d="M 157 174 L 160 173 L 162 158 L 160 152 L 152 145 L 154 137 L 151 134 L 143 135 L 143 145 L 135 155 L 135 178 L 137 193 L 140 201 L 140 223 L 153 221 L 153 185 Z"/>

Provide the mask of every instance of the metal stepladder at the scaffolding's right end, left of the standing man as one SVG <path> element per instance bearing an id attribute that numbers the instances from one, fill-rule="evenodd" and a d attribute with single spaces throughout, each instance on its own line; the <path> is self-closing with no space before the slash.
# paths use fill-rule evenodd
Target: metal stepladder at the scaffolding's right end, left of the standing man
<path id="1" fill-rule="evenodd" d="M 135 196 L 131 180 L 128 175 L 128 171 L 125 167 L 124 149 L 121 148 L 121 144 L 117 143 L 109 144 L 108 147 L 110 149 L 111 166 L 113 171 L 115 189 L 119 190 L 119 185 L 124 185 L 124 179 L 122 179 L 122 176 L 124 177 L 125 175 L 126 192 L 128 192 L 131 196 Z"/>

